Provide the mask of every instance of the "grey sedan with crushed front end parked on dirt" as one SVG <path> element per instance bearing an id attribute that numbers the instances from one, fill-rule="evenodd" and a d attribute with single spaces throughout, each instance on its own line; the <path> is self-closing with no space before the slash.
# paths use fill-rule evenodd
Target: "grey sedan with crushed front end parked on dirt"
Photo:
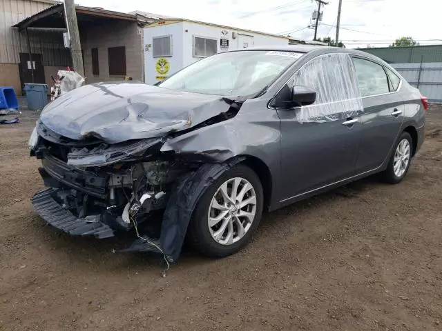
<path id="1" fill-rule="evenodd" d="M 73 235 L 133 232 L 129 250 L 168 261 L 188 237 L 224 257 L 249 241 L 263 210 L 376 172 L 402 181 L 426 108 L 365 52 L 223 52 L 157 86 L 91 84 L 46 106 L 30 149 L 48 188 L 32 203 Z"/>

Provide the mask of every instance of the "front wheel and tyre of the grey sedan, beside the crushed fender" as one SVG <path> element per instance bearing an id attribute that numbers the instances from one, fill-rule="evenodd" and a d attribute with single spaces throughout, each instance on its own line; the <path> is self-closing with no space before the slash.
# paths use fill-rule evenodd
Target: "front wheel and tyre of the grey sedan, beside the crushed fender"
<path id="1" fill-rule="evenodd" d="M 188 236 L 210 257 L 227 257 L 246 245 L 260 223 L 260 179 L 245 165 L 224 172 L 204 192 L 193 212 Z"/>

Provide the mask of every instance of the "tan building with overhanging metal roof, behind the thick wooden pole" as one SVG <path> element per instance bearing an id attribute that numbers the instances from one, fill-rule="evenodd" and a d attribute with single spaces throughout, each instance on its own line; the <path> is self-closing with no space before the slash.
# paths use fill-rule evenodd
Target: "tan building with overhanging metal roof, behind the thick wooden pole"
<path id="1" fill-rule="evenodd" d="M 75 10 L 86 82 L 126 76 L 142 80 L 141 26 L 160 15 L 85 6 Z M 52 83 L 51 75 L 72 66 L 65 31 L 63 3 L 0 0 L 0 86 L 13 86 L 19 94 L 24 83 Z"/>

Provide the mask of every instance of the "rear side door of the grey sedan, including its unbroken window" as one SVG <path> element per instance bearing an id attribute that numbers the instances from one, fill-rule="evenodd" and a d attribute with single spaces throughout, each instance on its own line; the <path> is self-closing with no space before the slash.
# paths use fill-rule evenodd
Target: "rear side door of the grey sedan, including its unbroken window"
<path id="1" fill-rule="evenodd" d="M 388 78 L 385 68 L 372 60 L 353 57 L 356 77 L 363 100 L 361 146 L 356 174 L 379 168 L 389 155 L 404 119 L 404 103 L 396 92 L 400 79 Z"/>

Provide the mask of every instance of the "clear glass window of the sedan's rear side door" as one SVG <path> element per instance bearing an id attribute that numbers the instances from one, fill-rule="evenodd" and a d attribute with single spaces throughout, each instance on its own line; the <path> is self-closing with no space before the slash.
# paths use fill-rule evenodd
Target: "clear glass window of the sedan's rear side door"
<path id="1" fill-rule="evenodd" d="M 358 57 L 353 62 L 362 97 L 390 92 L 383 66 Z"/>

